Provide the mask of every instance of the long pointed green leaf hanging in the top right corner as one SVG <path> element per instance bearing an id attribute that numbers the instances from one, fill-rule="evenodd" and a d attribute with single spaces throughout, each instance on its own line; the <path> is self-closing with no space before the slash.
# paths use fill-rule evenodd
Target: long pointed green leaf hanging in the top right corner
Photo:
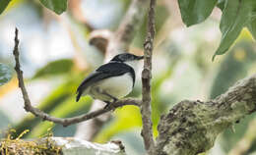
<path id="1" fill-rule="evenodd" d="M 221 20 L 221 31 L 223 33 L 221 43 L 213 56 L 224 54 L 239 35 L 243 26 L 252 19 L 253 10 L 256 8 L 255 0 L 226 0 Z"/>

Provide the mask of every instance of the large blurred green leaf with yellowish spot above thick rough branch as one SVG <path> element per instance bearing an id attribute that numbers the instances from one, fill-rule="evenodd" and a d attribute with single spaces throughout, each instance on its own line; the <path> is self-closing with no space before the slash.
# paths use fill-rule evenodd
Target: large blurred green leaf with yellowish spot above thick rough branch
<path id="1" fill-rule="evenodd" d="M 256 61 L 256 53 L 253 48 L 250 42 L 241 41 L 224 57 L 214 79 L 210 98 L 221 95 L 238 79 L 248 75 Z"/>

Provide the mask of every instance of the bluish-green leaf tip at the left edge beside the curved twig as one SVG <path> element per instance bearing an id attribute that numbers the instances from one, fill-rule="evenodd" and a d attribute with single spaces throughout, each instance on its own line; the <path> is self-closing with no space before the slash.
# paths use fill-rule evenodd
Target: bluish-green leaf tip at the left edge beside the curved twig
<path id="1" fill-rule="evenodd" d="M 0 63 L 0 86 L 8 82 L 11 78 L 11 69 L 8 66 Z"/>

